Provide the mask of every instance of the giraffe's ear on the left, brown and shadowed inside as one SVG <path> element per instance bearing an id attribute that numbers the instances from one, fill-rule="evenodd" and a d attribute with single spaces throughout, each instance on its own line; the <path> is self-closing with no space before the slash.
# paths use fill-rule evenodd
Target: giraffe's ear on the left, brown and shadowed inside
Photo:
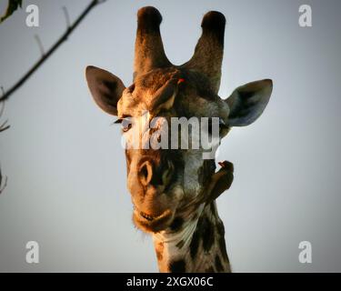
<path id="1" fill-rule="evenodd" d="M 85 75 L 95 103 L 109 115 L 117 115 L 117 102 L 125 90 L 121 79 L 92 65 L 86 67 Z"/>

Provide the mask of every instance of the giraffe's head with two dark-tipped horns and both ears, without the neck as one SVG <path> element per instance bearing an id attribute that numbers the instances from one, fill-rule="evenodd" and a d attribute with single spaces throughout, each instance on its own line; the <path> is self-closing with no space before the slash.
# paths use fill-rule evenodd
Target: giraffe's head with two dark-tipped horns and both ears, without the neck
<path id="1" fill-rule="evenodd" d="M 154 7 L 138 11 L 133 84 L 125 87 L 117 76 L 103 69 L 86 68 L 95 103 L 106 113 L 116 115 L 117 123 L 122 125 L 135 225 L 153 233 L 176 228 L 185 214 L 191 216 L 209 199 L 205 189 L 216 163 L 214 156 L 204 158 L 203 154 L 213 148 L 201 144 L 191 147 L 193 137 L 200 136 L 200 141 L 204 135 L 212 137 L 216 128 L 219 144 L 232 126 L 253 123 L 265 109 L 272 91 L 272 81 L 265 79 L 236 88 L 226 99 L 217 95 L 224 15 L 212 11 L 204 16 L 195 53 L 184 65 L 172 65 L 165 56 L 161 21 Z M 199 125 L 189 121 L 185 146 L 181 144 L 184 136 L 178 138 L 179 134 L 170 130 L 172 120 L 181 117 L 187 121 L 195 117 Z M 207 127 L 202 120 L 208 122 Z M 194 128 L 200 128 L 200 132 Z M 158 148 L 160 137 L 164 146 Z M 175 139 L 177 147 L 171 146 Z M 132 146 L 136 142 L 138 146 Z"/>

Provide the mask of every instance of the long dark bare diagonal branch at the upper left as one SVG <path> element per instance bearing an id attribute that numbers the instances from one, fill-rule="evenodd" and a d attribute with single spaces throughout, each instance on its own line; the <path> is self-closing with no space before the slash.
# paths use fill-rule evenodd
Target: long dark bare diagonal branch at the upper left
<path id="1" fill-rule="evenodd" d="M 85 10 L 83 11 L 83 13 L 81 15 L 78 16 L 78 18 L 75 20 L 74 24 L 69 26 L 66 31 L 65 34 L 63 34 L 55 43 L 55 45 L 52 45 L 52 47 L 46 52 L 45 55 L 43 55 L 36 63 L 35 65 L 33 65 L 33 67 L 15 84 L 13 85 L 7 92 L 5 92 L 5 95 L 3 95 L 0 98 L 0 102 L 1 101 L 5 101 L 6 99 L 8 99 L 8 97 L 10 95 L 12 95 L 16 89 L 18 89 L 21 85 L 23 85 L 25 83 L 25 81 L 32 75 L 35 73 L 35 71 L 40 67 L 40 65 L 42 65 L 45 60 L 52 55 L 55 50 L 59 47 L 59 45 L 62 45 L 65 40 L 67 39 L 67 37 L 74 31 L 75 27 L 77 25 L 79 25 L 79 23 L 83 20 L 83 18 L 95 7 L 95 5 L 101 4 L 105 1 L 103 0 L 93 0 L 91 1 L 91 3 L 85 8 Z"/>

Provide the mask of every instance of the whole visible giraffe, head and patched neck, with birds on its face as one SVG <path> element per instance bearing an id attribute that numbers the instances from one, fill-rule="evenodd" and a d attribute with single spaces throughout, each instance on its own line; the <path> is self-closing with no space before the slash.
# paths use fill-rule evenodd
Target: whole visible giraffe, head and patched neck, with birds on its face
<path id="1" fill-rule="evenodd" d="M 137 12 L 132 85 L 125 87 L 119 77 L 95 66 L 85 70 L 96 105 L 117 116 L 126 144 L 132 142 L 145 112 L 148 122 L 163 117 L 155 125 L 161 132 L 172 117 L 217 117 L 219 142 L 232 127 L 250 125 L 263 113 L 272 93 L 270 79 L 239 86 L 226 99 L 217 95 L 224 15 L 204 15 L 195 53 L 184 65 L 172 65 L 166 57 L 161 22 L 155 7 Z M 137 139 L 143 143 L 141 135 Z M 204 159 L 204 151 L 125 147 L 133 222 L 153 237 L 160 272 L 231 272 L 216 198 L 231 186 L 234 166 L 224 161 L 216 170 L 215 157 Z"/>

